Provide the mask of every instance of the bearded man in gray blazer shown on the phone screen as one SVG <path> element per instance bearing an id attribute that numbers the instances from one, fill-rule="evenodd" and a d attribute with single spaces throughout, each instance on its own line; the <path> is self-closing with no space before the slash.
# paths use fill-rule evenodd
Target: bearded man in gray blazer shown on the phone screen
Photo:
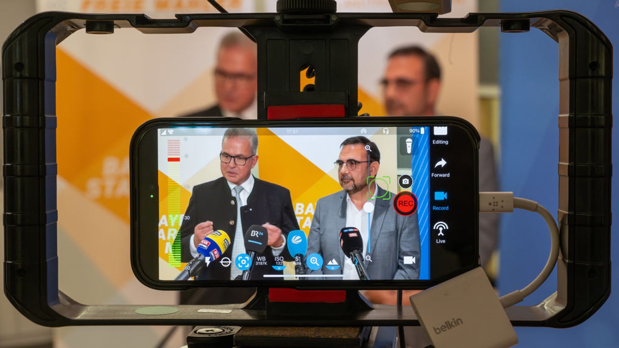
<path id="1" fill-rule="evenodd" d="M 324 261 L 321 268 L 308 269 L 308 274 L 341 274 L 342 278 L 327 279 L 359 279 L 352 261 L 342 252 L 339 237 L 342 228 L 357 227 L 370 279 L 418 279 L 417 213 L 396 213 L 395 195 L 371 180 L 380 165 L 378 146 L 366 137 L 352 137 L 344 140 L 340 149 L 335 164 L 344 190 L 316 203 L 306 257 L 318 253 Z"/>

